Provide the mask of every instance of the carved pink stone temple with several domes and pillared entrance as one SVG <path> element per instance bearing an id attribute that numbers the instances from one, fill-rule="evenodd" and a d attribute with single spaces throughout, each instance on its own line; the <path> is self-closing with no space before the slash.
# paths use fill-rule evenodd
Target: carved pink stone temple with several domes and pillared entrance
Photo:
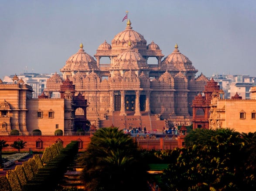
<path id="1" fill-rule="evenodd" d="M 182 123 L 192 115 L 192 100 L 208 81 L 202 74 L 195 78 L 198 70 L 180 53 L 177 44 L 161 60 L 164 55 L 160 47 L 154 41 L 147 45 L 130 20 L 111 45 L 105 41 L 94 56 L 96 60 L 85 53 L 81 43 L 79 51 L 60 70 L 64 80 L 68 78 L 75 85 L 75 95 L 81 93 L 88 100 L 87 118 L 91 122 L 105 120 L 105 116 L 149 114 Z M 109 58 L 109 63 L 101 63 L 102 57 Z M 156 64 L 147 63 L 151 57 Z M 61 80 L 56 79 L 57 75 L 48 79 L 47 95 L 58 91 L 52 82 L 60 84 Z"/>

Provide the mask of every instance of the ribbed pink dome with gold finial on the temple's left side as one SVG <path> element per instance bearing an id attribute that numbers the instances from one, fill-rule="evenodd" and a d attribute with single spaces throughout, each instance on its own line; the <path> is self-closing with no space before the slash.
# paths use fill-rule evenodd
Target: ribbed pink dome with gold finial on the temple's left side
<path id="1" fill-rule="evenodd" d="M 92 56 L 85 53 L 85 50 L 83 49 L 83 44 L 80 44 L 80 49 L 77 53 L 70 56 L 69 59 L 66 61 L 66 63 L 95 63 L 95 59 L 93 59 Z"/>

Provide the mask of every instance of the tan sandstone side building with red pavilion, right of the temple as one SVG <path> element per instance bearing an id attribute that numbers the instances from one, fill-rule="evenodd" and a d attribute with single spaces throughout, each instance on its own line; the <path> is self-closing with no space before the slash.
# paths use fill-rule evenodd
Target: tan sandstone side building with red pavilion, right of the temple
<path id="1" fill-rule="evenodd" d="M 193 100 L 193 129 L 232 128 L 237 132 L 256 132 L 256 86 L 250 90 L 251 99 L 238 93 L 224 99 L 224 91 L 213 79 L 205 86 L 204 95 Z"/>

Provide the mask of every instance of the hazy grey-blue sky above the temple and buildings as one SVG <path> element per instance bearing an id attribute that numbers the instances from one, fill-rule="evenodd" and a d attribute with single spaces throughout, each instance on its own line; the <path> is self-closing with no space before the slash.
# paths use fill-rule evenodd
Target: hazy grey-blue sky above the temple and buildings
<path id="1" fill-rule="evenodd" d="M 82 42 L 93 56 L 105 40 L 133 30 L 164 57 L 175 43 L 205 76 L 256 76 L 256 0 L 2 0 L 0 78 L 60 72 Z"/>

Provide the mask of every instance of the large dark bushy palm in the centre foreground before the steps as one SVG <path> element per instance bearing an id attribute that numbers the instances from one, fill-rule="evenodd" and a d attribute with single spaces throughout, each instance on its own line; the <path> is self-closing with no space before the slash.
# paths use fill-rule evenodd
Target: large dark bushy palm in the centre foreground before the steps
<path id="1" fill-rule="evenodd" d="M 136 142 L 116 127 L 96 131 L 79 161 L 89 190 L 147 189 L 147 162 Z"/>

